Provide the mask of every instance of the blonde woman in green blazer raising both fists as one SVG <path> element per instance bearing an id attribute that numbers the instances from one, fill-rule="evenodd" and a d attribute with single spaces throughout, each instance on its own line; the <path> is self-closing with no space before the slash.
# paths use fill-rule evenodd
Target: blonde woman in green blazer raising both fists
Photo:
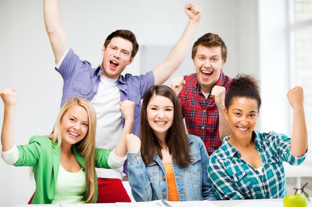
<path id="1" fill-rule="evenodd" d="M 125 136 L 131 133 L 134 103 L 120 102 L 126 120 L 115 149 L 95 148 L 96 114 L 89 101 L 70 98 L 61 108 L 54 130 L 47 136 L 33 136 L 27 145 L 15 145 L 14 89 L 3 89 L 4 103 L 1 157 L 7 164 L 31 166 L 36 190 L 31 204 L 95 203 L 95 167 L 121 167 L 127 155 Z"/>

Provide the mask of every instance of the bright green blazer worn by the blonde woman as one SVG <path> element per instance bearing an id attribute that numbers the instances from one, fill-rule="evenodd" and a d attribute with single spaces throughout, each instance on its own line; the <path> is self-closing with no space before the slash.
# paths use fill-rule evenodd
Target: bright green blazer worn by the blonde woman
<path id="1" fill-rule="evenodd" d="M 44 136 L 33 136 L 27 145 L 18 145 L 18 160 L 14 166 L 31 166 L 36 181 L 36 190 L 31 204 L 51 204 L 55 195 L 55 185 L 61 159 L 61 147 L 57 142 Z M 96 149 L 96 167 L 110 168 L 108 156 L 112 150 Z M 84 157 L 73 145 L 73 152 L 82 169 L 85 171 Z M 96 197 L 98 197 L 98 181 L 95 173 Z"/>

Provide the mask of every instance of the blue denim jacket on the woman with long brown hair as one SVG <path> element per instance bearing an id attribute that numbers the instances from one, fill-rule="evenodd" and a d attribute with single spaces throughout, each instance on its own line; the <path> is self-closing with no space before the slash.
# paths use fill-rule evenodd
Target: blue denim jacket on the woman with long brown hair
<path id="1" fill-rule="evenodd" d="M 203 141 L 188 135 L 191 163 L 180 168 L 172 159 L 176 189 L 180 201 L 216 200 L 208 181 L 208 153 Z M 153 163 L 145 164 L 141 152 L 128 153 L 128 177 L 136 201 L 168 200 L 164 166 L 155 154 Z"/>

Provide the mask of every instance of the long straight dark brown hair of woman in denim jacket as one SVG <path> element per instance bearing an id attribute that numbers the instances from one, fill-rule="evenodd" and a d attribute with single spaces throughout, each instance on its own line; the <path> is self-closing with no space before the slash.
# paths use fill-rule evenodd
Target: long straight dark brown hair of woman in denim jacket
<path id="1" fill-rule="evenodd" d="M 154 85 L 149 88 L 144 97 L 141 111 L 141 133 L 140 138 L 142 142 L 141 154 L 143 161 L 146 164 L 152 163 L 155 153 L 162 158 L 161 146 L 158 138 L 153 133 L 147 118 L 147 107 L 151 98 L 155 95 L 164 96 L 173 103 L 173 122 L 169 128 L 165 138 L 165 144 L 172 154 L 178 166 L 186 167 L 189 165 L 191 157 L 189 155 L 189 143 L 186 130 L 183 123 L 183 116 L 180 109 L 179 101 L 173 90 L 165 85 Z"/>

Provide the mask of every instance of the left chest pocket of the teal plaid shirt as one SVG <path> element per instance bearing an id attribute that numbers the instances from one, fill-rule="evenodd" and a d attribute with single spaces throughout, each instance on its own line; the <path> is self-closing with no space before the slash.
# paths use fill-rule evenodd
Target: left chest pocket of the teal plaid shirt
<path id="1" fill-rule="evenodd" d="M 252 184 L 244 170 L 233 173 L 230 179 L 241 194 L 245 195 L 252 190 Z"/>

